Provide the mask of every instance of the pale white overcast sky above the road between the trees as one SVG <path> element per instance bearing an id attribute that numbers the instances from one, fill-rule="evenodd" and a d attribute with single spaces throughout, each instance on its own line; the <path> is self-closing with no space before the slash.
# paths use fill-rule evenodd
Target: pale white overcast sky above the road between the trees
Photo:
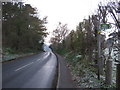
<path id="1" fill-rule="evenodd" d="M 52 32 L 58 22 L 68 24 L 70 30 L 88 15 L 95 13 L 100 1 L 105 0 L 25 0 L 38 9 L 40 17 L 48 16 L 47 29 Z M 49 40 L 48 38 L 46 39 Z"/>

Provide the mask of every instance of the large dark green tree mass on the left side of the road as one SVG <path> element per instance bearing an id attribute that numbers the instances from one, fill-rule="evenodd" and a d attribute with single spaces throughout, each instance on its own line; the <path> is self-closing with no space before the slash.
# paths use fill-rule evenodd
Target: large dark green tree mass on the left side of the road
<path id="1" fill-rule="evenodd" d="M 30 4 L 3 3 L 3 47 L 16 51 L 40 49 L 38 42 L 47 35 L 46 19 L 39 19 Z"/>

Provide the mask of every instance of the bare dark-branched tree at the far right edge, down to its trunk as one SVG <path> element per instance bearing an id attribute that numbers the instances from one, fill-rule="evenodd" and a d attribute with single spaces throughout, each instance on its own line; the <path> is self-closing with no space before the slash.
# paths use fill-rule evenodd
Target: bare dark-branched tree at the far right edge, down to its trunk
<path id="1" fill-rule="evenodd" d="M 118 62 L 117 64 L 117 74 L 116 74 L 116 87 L 120 88 L 120 1 L 115 1 L 115 2 L 109 2 L 107 4 L 108 7 L 108 11 L 111 14 L 115 26 L 117 27 L 117 30 L 115 32 L 113 32 L 112 34 L 110 34 L 110 36 L 112 36 L 112 40 L 113 40 L 113 49 L 114 49 L 114 55 L 118 58 L 115 58 L 115 61 Z M 117 18 L 118 16 L 118 18 Z M 115 53 L 117 52 L 117 53 Z"/>

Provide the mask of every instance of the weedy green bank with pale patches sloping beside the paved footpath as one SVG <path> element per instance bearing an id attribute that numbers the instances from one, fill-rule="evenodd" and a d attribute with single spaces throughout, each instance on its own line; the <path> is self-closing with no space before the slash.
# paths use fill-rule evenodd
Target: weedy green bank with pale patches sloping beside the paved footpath
<path id="1" fill-rule="evenodd" d="M 77 83 L 79 88 L 114 88 L 115 86 L 106 86 L 105 77 L 98 80 L 97 67 L 90 61 L 87 56 L 82 56 L 69 50 L 58 51 L 62 55 L 68 68 L 71 70 L 72 79 Z"/>

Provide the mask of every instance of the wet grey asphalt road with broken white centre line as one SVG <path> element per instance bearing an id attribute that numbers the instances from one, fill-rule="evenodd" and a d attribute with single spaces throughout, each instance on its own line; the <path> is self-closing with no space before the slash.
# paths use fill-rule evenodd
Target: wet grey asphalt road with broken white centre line
<path id="1" fill-rule="evenodd" d="M 2 65 L 2 88 L 51 88 L 56 67 L 52 52 L 6 62 Z"/>

